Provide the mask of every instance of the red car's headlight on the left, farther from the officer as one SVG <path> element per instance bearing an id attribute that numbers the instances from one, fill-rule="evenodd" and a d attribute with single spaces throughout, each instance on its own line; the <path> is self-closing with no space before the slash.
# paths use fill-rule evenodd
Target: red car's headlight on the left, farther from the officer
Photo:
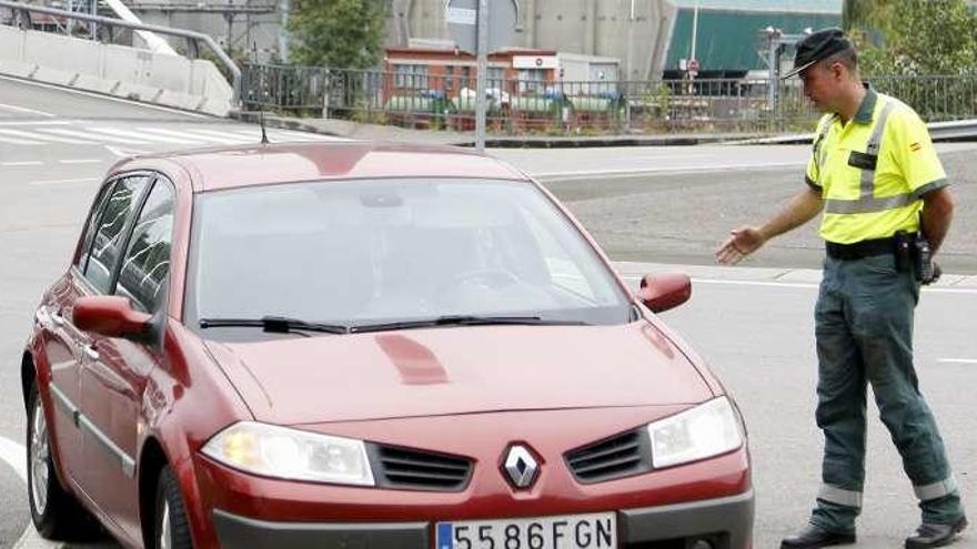
<path id="1" fill-rule="evenodd" d="M 374 486 L 362 440 L 241 421 L 216 434 L 204 455 L 236 469 L 292 480 Z"/>

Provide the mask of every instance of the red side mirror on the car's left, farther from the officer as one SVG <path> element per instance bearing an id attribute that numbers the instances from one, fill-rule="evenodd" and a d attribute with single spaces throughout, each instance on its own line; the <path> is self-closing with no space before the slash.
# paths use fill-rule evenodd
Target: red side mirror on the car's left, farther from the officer
<path id="1" fill-rule="evenodd" d="M 82 332 L 139 342 L 150 335 L 151 318 L 145 313 L 134 311 L 129 298 L 119 295 L 80 297 L 72 313 L 74 326 Z"/>

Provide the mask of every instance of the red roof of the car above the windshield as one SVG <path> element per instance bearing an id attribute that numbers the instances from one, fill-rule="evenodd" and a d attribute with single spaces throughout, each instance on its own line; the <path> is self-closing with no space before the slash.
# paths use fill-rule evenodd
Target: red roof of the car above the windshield
<path id="1" fill-rule="evenodd" d="M 125 160 L 111 172 L 180 165 L 194 192 L 320 180 L 477 177 L 527 181 L 474 150 L 370 141 L 319 141 L 197 149 Z"/>

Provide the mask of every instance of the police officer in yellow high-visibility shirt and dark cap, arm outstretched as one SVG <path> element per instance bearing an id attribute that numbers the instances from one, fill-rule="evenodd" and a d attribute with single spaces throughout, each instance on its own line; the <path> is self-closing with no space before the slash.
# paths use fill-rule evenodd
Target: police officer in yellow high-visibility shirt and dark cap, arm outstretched
<path id="1" fill-rule="evenodd" d="M 855 50 L 840 30 L 805 38 L 794 65 L 785 78 L 799 74 L 804 94 L 825 113 L 807 186 L 763 225 L 732 231 L 716 252 L 719 263 L 736 263 L 824 211 L 826 257 L 815 308 L 823 484 L 808 525 L 780 547 L 855 542 L 865 482 L 867 384 L 923 509 L 923 523 L 906 548 L 944 546 L 967 519 L 933 413 L 918 389 L 913 313 L 919 278 L 933 279 L 920 252 L 927 245 L 930 253 L 939 248 L 953 215 L 946 174 L 916 112 L 862 83 Z"/>

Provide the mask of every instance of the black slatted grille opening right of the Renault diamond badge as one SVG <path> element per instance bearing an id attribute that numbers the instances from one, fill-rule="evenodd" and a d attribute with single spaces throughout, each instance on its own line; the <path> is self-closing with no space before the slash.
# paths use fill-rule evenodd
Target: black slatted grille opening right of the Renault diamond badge
<path id="1" fill-rule="evenodd" d="M 565 458 L 578 481 L 600 482 L 652 470 L 652 444 L 645 429 L 635 429 L 570 450 Z"/>

